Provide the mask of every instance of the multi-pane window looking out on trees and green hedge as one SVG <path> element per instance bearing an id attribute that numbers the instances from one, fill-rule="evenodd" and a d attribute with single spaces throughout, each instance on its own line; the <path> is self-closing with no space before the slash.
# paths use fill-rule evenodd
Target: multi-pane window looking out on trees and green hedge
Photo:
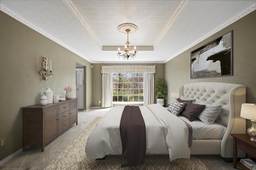
<path id="1" fill-rule="evenodd" d="M 143 73 L 113 73 L 113 102 L 144 102 Z"/>

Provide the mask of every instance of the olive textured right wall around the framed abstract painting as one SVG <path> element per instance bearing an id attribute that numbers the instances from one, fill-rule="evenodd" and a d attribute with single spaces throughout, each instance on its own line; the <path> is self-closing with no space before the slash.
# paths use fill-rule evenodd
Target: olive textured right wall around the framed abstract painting
<path id="1" fill-rule="evenodd" d="M 246 103 L 256 103 L 256 11 L 244 16 L 240 20 L 230 24 L 213 36 L 198 43 L 194 47 L 176 56 L 165 65 L 165 79 L 169 91 L 178 91 L 178 88 L 186 83 L 213 81 L 223 83 L 242 84 L 246 86 Z M 190 79 L 190 52 L 208 43 L 215 38 L 234 30 L 234 75 L 227 77 L 214 77 L 204 79 Z M 168 93 L 168 103 L 173 99 Z M 251 126 L 247 121 L 247 128 Z"/>

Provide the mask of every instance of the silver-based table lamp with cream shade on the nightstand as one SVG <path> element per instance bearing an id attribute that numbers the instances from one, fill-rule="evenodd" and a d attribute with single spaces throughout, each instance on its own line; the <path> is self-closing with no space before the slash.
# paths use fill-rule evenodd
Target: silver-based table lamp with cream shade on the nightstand
<path id="1" fill-rule="evenodd" d="M 256 142 L 256 104 L 243 103 L 240 117 L 251 120 L 252 127 L 247 129 L 247 134 L 249 134 L 250 140 Z"/>

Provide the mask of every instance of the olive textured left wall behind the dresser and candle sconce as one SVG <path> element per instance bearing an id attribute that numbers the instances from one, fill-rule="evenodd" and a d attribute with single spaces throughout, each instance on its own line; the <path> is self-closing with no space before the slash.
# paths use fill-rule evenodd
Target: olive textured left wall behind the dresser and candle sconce
<path id="1" fill-rule="evenodd" d="M 38 73 L 42 57 L 52 60 L 54 77 L 48 82 Z M 22 148 L 20 107 L 39 103 L 46 87 L 65 96 L 70 85 L 76 97 L 76 62 L 86 66 L 86 82 L 91 82 L 91 63 L 0 11 L 0 138 L 6 139 L 0 160 Z M 86 91 L 91 100 L 91 83 Z"/>

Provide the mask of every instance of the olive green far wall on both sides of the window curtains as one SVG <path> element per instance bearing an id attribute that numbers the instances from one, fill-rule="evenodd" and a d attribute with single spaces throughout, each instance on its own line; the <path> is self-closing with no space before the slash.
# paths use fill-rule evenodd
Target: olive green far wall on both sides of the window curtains
<path id="1" fill-rule="evenodd" d="M 156 64 L 156 73 L 154 75 L 154 86 L 156 86 L 156 82 L 158 78 L 164 79 L 164 64 Z M 93 64 L 92 69 L 92 106 L 100 107 L 101 104 L 97 101 L 101 100 L 102 94 L 102 73 L 101 73 L 101 64 Z M 156 96 L 156 92 L 154 94 Z M 96 100 L 96 101 L 94 101 Z M 156 103 L 156 98 L 154 99 Z"/>

